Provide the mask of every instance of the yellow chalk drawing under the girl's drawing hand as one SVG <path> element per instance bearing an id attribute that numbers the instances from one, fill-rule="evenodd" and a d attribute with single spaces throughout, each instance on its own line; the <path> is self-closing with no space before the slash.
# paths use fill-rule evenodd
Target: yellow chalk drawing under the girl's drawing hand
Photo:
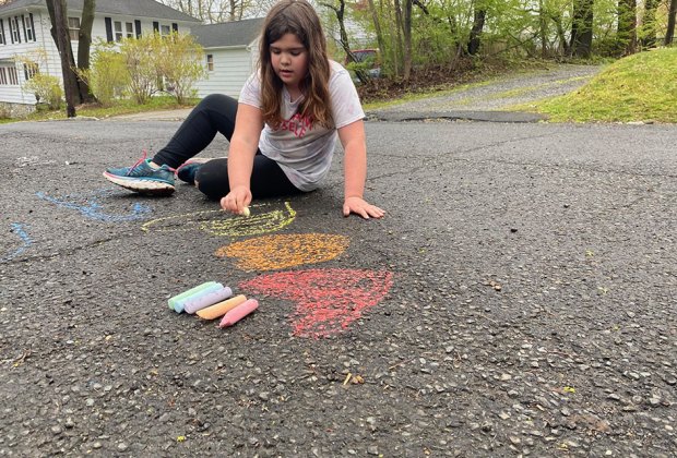
<path id="1" fill-rule="evenodd" d="M 202 230 L 218 237 L 250 237 L 275 232 L 296 218 L 296 212 L 288 202 L 285 209 L 261 212 L 270 204 L 251 205 L 251 216 L 246 218 L 224 210 L 195 212 L 185 215 L 153 219 L 141 226 L 147 232 L 187 232 Z"/>

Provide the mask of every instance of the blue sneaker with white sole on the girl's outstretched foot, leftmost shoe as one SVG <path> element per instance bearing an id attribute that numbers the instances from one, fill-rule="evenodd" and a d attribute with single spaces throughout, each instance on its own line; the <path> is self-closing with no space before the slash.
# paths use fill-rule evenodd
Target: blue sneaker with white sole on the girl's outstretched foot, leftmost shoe
<path id="1" fill-rule="evenodd" d="M 107 169 L 104 177 L 130 191 L 157 195 L 171 194 L 175 190 L 175 170 L 166 165 L 154 169 L 150 166 L 150 161 L 151 159 L 146 159 L 146 152 L 144 150 L 143 157 L 132 167 Z"/>

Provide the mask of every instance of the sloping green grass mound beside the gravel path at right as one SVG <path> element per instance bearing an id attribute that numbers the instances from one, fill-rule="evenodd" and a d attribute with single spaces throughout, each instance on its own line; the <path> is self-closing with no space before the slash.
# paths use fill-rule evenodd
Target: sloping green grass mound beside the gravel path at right
<path id="1" fill-rule="evenodd" d="M 677 48 L 620 59 L 571 94 L 510 109 L 545 113 L 551 122 L 677 123 Z"/>

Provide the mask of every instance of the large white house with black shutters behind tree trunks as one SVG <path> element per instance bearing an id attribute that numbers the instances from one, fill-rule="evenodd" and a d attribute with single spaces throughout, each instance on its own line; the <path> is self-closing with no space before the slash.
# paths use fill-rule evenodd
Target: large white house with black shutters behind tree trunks
<path id="1" fill-rule="evenodd" d="M 67 3 L 76 56 L 83 1 Z M 92 40 L 120 41 L 152 31 L 190 33 L 199 24 L 199 20 L 154 0 L 97 0 Z M 21 116 L 35 109 L 35 96 L 23 92 L 22 85 L 36 71 L 61 79 L 61 61 L 50 28 L 45 0 L 13 0 L 0 7 L 0 111 Z"/>

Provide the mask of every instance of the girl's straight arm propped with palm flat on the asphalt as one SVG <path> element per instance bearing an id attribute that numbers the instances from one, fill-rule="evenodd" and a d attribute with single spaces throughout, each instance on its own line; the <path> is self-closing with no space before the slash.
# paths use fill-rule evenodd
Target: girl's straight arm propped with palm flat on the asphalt
<path id="1" fill-rule="evenodd" d="M 365 122 L 355 121 L 339 129 L 339 138 L 344 154 L 344 202 L 343 215 L 354 213 L 365 219 L 382 218 L 385 212 L 369 204 L 364 198 L 365 181 L 367 180 L 367 141 L 365 137 Z"/>

